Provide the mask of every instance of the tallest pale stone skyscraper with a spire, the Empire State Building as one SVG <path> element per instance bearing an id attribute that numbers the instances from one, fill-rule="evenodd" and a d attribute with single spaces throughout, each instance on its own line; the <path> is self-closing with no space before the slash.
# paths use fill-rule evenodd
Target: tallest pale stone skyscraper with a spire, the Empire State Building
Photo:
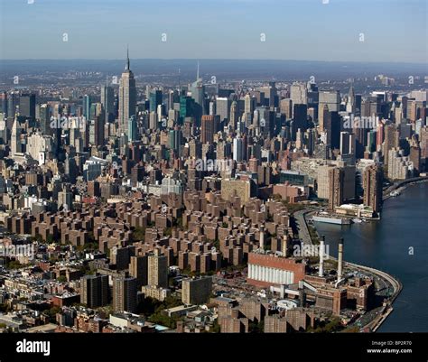
<path id="1" fill-rule="evenodd" d="M 129 51 L 126 52 L 126 67 L 119 84 L 119 132 L 128 134 L 128 121 L 135 116 L 136 88 L 134 73 L 129 68 Z"/>

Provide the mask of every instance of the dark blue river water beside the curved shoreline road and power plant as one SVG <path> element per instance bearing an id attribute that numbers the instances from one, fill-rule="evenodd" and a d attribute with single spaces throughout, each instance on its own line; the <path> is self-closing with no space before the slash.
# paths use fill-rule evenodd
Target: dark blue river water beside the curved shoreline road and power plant
<path id="1" fill-rule="evenodd" d="M 331 255 L 337 256 L 344 237 L 345 261 L 380 269 L 403 283 L 394 311 L 377 331 L 428 331 L 428 182 L 386 200 L 378 222 L 315 224 Z"/>

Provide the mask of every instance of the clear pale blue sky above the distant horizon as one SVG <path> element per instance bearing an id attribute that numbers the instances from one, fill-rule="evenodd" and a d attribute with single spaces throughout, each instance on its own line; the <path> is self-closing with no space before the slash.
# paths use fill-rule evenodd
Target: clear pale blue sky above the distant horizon
<path id="1" fill-rule="evenodd" d="M 0 59 L 428 60 L 426 0 L 0 0 L 0 23 Z"/>

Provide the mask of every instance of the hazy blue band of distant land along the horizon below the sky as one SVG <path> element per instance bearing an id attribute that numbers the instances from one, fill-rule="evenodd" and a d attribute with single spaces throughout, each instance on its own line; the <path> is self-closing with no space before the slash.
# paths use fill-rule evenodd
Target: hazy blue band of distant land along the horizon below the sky
<path id="1" fill-rule="evenodd" d="M 370 78 L 379 74 L 407 79 L 424 78 L 425 64 L 400 62 L 323 61 L 323 60 L 203 60 L 203 59 L 132 59 L 131 70 L 136 76 L 169 76 L 195 79 L 197 64 L 200 76 L 209 79 L 347 79 Z M 99 72 L 120 76 L 125 60 L 0 60 L 0 77 L 5 83 L 17 74 L 70 71 Z"/>

